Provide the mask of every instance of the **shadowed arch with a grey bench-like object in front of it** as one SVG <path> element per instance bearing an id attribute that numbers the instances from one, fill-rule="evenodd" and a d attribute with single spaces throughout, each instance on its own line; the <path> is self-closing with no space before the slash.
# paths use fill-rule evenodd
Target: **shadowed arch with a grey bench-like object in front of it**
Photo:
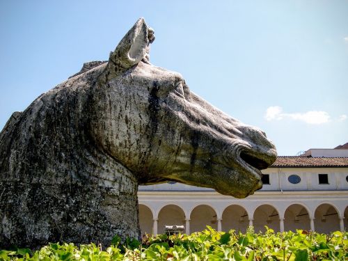
<path id="1" fill-rule="evenodd" d="M 164 233 L 164 226 L 185 225 L 185 212 L 178 205 L 165 205 L 158 213 L 158 233 Z"/>

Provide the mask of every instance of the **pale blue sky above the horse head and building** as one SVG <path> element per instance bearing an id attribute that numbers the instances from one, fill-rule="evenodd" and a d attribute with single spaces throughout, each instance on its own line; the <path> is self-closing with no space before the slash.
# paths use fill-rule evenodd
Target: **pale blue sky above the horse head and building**
<path id="1" fill-rule="evenodd" d="M 348 142 L 348 1 L 0 1 L 0 129 L 106 60 L 136 19 L 151 62 L 262 128 L 279 155 Z"/>

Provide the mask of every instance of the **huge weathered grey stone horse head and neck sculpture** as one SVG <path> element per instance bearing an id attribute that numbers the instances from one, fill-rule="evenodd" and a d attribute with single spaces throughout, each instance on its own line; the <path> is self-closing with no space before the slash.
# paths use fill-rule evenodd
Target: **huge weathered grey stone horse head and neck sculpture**
<path id="1" fill-rule="evenodd" d="M 174 180 L 243 198 L 276 148 L 149 60 L 139 19 L 108 62 L 13 113 L 0 134 L 0 246 L 139 237 L 139 184 Z"/>

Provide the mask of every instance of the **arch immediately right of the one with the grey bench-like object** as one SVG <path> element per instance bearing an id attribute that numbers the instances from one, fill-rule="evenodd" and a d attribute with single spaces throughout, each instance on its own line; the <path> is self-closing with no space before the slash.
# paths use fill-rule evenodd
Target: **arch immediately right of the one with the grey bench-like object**
<path id="1" fill-rule="evenodd" d="M 217 230 L 217 215 L 213 207 L 209 205 L 198 205 L 192 209 L 190 214 L 190 230 L 198 232 L 211 226 Z"/>

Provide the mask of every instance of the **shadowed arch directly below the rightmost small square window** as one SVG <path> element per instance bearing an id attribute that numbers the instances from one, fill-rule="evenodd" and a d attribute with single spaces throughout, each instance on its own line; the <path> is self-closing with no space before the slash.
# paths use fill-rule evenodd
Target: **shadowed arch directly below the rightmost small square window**
<path id="1" fill-rule="evenodd" d="M 329 234 L 340 230 L 340 213 L 337 207 L 331 203 L 322 203 L 315 209 L 315 231 Z"/>

